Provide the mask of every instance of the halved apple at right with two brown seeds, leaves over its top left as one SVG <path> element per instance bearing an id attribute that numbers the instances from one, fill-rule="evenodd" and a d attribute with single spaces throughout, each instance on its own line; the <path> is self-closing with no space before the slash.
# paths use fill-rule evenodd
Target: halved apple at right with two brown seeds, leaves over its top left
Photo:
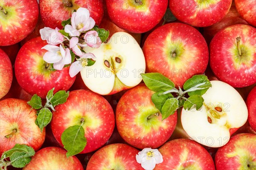
<path id="1" fill-rule="evenodd" d="M 205 146 L 221 147 L 229 141 L 233 128 L 245 124 L 248 111 L 236 89 L 217 80 L 211 83 L 212 87 L 202 96 L 202 108 L 199 111 L 183 108 L 181 123 L 193 140 Z"/>

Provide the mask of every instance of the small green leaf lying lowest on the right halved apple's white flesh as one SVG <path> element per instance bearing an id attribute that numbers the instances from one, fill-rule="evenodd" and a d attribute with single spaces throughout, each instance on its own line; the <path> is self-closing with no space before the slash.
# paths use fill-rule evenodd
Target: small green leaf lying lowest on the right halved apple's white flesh
<path id="1" fill-rule="evenodd" d="M 183 105 L 183 108 L 185 110 L 190 110 L 194 105 L 196 107 L 196 110 L 199 110 L 203 105 L 204 99 L 202 96 L 199 95 L 193 95 L 190 96 Z"/>

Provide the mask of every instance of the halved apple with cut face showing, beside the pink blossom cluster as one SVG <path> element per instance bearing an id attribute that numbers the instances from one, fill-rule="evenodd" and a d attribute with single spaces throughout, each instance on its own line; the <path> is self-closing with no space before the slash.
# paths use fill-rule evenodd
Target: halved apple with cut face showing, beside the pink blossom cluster
<path id="1" fill-rule="evenodd" d="M 84 84 L 101 95 L 115 94 L 138 85 L 145 73 L 145 58 L 140 45 L 130 34 L 117 32 L 99 48 L 84 48 L 96 62 L 81 70 Z"/>

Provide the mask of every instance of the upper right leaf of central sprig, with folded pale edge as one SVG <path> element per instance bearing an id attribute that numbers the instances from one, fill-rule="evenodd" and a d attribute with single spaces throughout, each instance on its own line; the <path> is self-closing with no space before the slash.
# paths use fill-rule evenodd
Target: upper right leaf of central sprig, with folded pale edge
<path id="1" fill-rule="evenodd" d="M 183 85 L 184 90 L 188 91 L 189 96 L 203 95 L 210 87 L 212 87 L 212 84 L 205 75 L 195 75 Z"/>

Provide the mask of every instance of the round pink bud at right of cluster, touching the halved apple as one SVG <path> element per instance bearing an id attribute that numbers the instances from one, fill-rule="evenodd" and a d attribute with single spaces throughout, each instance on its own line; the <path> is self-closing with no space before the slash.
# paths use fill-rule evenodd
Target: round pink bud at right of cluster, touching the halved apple
<path id="1" fill-rule="evenodd" d="M 88 31 L 84 35 L 84 40 L 87 43 L 87 45 L 89 47 L 92 47 L 92 48 L 99 48 L 99 46 L 102 43 L 102 41 L 99 38 L 99 34 L 98 34 L 97 31 Z"/>

